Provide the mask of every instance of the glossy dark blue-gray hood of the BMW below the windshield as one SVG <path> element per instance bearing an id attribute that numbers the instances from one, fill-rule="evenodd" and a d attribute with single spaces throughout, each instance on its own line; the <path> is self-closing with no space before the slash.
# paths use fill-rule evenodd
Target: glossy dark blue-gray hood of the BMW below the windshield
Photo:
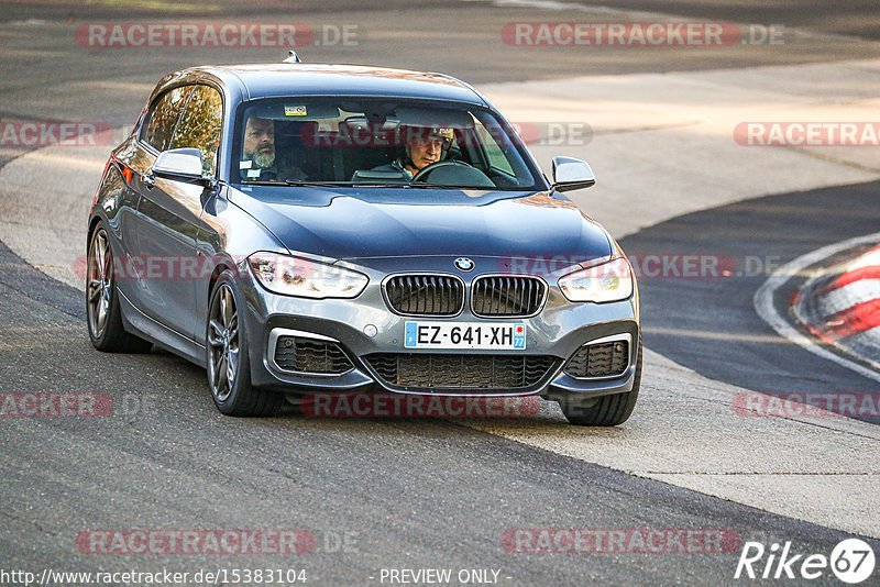
<path id="1" fill-rule="evenodd" d="M 602 226 L 556 192 L 262 186 L 228 193 L 292 253 L 333 259 L 562 255 L 575 263 L 610 254 Z"/>

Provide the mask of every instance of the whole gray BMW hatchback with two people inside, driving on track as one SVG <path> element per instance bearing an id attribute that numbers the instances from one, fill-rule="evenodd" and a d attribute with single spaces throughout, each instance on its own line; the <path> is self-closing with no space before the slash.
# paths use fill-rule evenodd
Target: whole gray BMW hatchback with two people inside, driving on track
<path id="1" fill-rule="evenodd" d="M 290 63 L 288 63 L 290 62 Z M 207 368 L 218 409 L 321 394 L 540 396 L 629 418 L 636 280 L 490 101 L 451 77 L 195 67 L 160 81 L 89 215 L 92 344 Z"/>

